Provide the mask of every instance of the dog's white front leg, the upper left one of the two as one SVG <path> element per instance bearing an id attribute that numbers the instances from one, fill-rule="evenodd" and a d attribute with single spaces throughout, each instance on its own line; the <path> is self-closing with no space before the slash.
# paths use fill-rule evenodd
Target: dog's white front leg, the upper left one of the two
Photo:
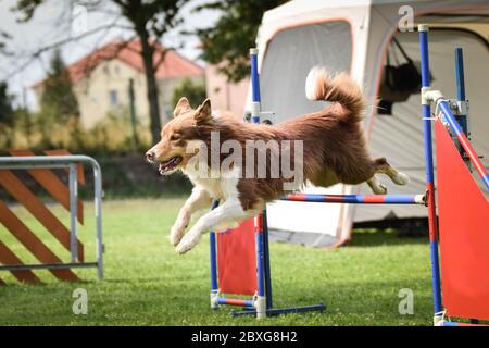
<path id="1" fill-rule="evenodd" d="M 211 202 L 212 198 L 204 188 L 193 187 L 190 197 L 178 212 L 178 217 L 170 232 L 170 241 L 174 246 L 177 246 L 181 237 L 184 237 L 185 228 L 187 228 L 193 212 L 201 209 L 210 209 Z"/>

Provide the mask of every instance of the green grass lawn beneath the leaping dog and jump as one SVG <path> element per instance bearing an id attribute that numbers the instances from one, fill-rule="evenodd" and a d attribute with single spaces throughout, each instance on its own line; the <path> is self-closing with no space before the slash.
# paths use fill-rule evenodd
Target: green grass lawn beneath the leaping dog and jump
<path id="1" fill-rule="evenodd" d="M 355 234 L 336 250 L 273 243 L 271 245 L 276 307 L 326 302 L 325 312 L 288 314 L 256 321 L 231 319 L 229 308 L 209 308 L 209 238 L 177 256 L 166 239 L 181 198 L 108 201 L 103 206 L 104 271 L 78 270 L 79 283 L 60 283 L 36 271 L 42 285 L 20 285 L 10 273 L 0 286 L 2 325 L 430 325 L 431 290 L 428 244 L 391 233 Z M 80 231 L 87 260 L 95 258 L 92 204 L 86 203 Z M 14 212 L 47 240 L 59 256 L 65 251 L 23 208 Z M 63 221 L 67 213 L 53 211 Z M 4 227 L 0 240 L 24 262 L 34 262 Z M 66 260 L 67 261 L 67 260 Z M 72 293 L 88 291 L 88 314 L 72 312 Z M 414 293 L 414 314 L 398 311 L 399 290 Z"/>

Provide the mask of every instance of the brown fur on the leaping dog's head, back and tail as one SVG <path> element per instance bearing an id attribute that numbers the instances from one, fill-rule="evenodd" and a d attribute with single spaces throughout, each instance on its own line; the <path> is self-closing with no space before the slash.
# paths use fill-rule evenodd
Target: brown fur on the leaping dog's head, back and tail
<path id="1" fill-rule="evenodd" d="M 371 179 L 375 173 L 399 174 L 385 158 L 374 160 L 366 150 L 361 125 L 364 102 L 359 86 L 344 74 L 334 79 L 321 75 L 316 84 L 315 99 L 334 102 L 329 108 L 273 126 L 247 123 L 226 113 L 213 117 L 209 100 L 192 110 L 183 98 L 175 109 L 174 120 L 161 133 L 162 140 L 153 148 L 159 154 L 155 160 L 181 156 L 179 167 L 185 169 L 191 158 L 185 153 L 187 142 L 202 140 L 210 149 L 211 132 L 220 132 L 221 142 L 235 139 L 242 148 L 246 140 L 303 140 L 303 177 L 316 186 L 355 185 Z M 175 135 L 176 139 L 172 138 Z M 220 162 L 227 156 L 221 154 Z M 279 151 L 267 151 L 268 159 L 278 156 Z M 244 170 L 244 163 L 241 167 Z M 261 209 L 265 202 L 284 194 L 285 178 L 281 175 L 269 178 L 268 174 L 269 161 L 267 178 L 246 178 L 242 173 L 237 189 L 243 210 Z"/>

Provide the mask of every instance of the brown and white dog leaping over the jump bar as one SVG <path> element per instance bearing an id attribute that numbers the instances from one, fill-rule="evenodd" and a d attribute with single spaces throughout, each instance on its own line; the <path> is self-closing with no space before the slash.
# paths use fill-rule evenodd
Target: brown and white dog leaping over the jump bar
<path id="1" fill-rule="evenodd" d="M 305 91 L 309 99 L 327 100 L 331 105 L 274 126 L 213 113 L 209 99 L 196 110 L 186 98 L 178 101 L 174 119 L 161 132 L 160 142 L 146 153 L 148 161 L 160 163 L 161 174 L 181 170 L 195 185 L 170 234 L 178 253 L 192 249 L 209 231 L 235 227 L 255 215 L 266 202 L 286 191 L 286 184 L 290 190 L 300 189 L 306 182 L 322 187 L 366 182 L 375 194 L 386 194 L 386 187 L 375 176 L 377 173 L 387 174 L 398 185 L 408 184 L 408 176 L 390 166 L 385 158 L 372 159 L 368 154 L 361 125 L 362 90 L 348 75 L 331 77 L 324 69 L 313 67 L 306 78 Z M 221 151 L 212 145 L 213 134 L 218 135 Z M 255 157 L 260 156 L 253 156 L 251 162 L 238 160 L 223 169 L 229 154 L 229 150 L 221 148 L 226 141 L 247 149 L 252 141 L 287 142 L 287 146 L 255 147 L 254 154 L 265 153 L 262 174 L 266 175 L 250 176 L 244 175 L 249 170 L 247 165 L 252 166 L 253 173 L 259 171 Z M 297 141 L 300 141 L 301 151 Z M 189 148 L 193 150 L 189 151 Z M 206 160 L 195 161 L 202 152 L 206 152 L 203 153 Z M 272 161 L 281 160 L 285 152 L 291 157 L 291 165 L 301 169 L 299 182 L 286 176 L 284 170 L 279 170 L 278 175 L 271 175 Z M 221 204 L 210 211 L 213 199 L 218 199 Z M 185 233 L 191 215 L 200 210 L 206 213 Z"/>

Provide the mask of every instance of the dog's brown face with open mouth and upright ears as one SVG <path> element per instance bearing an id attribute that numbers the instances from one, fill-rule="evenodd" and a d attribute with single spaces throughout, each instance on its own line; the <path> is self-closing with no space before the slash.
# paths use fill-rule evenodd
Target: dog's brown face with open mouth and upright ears
<path id="1" fill-rule="evenodd" d="M 187 98 L 180 98 L 173 120 L 161 130 L 161 140 L 146 152 L 150 163 L 160 163 L 160 174 L 170 175 L 187 165 L 196 153 L 187 153 L 187 146 L 199 139 L 199 127 L 212 119 L 211 102 L 206 99 L 193 110 Z"/>

